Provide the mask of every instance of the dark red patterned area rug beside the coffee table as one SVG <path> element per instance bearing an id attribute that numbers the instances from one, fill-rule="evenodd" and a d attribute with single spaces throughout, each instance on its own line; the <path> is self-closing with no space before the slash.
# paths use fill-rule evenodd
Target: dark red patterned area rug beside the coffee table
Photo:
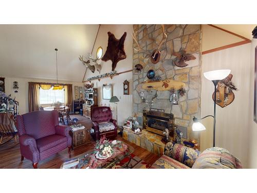
<path id="1" fill-rule="evenodd" d="M 134 155 L 133 153 L 131 154 L 131 162 L 128 165 L 131 169 L 147 169 L 151 165 L 140 159 L 140 157 Z M 113 166 L 113 169 L 126 169 L 125 166 L 130 161 L 130 157 L 125 157 L 122 161 L 117 163 L 115 166 Z M 123 167 L 124 166 L 124 167 Z"/>

